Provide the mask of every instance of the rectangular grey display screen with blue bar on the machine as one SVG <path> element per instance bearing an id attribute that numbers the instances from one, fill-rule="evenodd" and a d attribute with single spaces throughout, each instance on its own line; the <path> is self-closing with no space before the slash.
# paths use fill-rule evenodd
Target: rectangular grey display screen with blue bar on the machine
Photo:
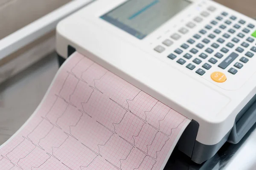
<path id="1" fill-rule="evenodd" d="M 101 18 L 143 39 L 189 4 L 187 0 L 128 0 Z"/>

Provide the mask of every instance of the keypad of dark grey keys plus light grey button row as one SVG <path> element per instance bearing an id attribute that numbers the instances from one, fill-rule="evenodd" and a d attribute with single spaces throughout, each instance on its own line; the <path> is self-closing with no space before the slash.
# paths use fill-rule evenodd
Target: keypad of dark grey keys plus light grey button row
<path id="1" fill-rule="evenodd" d="M 171 39 L 180 40 L 184 34 L 187 34 L 190 29 L 195 29 L 197 23 L 201 23 L 209 15 L 212 15 L 210 10 L 202 11 L 191 22 L 180 27 L 177 33 L 172 34 Z M 176 48 L 167 57 L 180 65 L 184 65 L 186 61 L 190 60 L 190 63 L 186 64 L 186 68 L 191 71 L 197 68 L 195 73 L 201 76 L 216 66 L 230 74 L 237 74 L 237 69 L 243 69 L 243 64 L 247 63 L 248 58 L 253 57 L 256 53 L 256 47 L 250 46 L 255 39 L 253 36 L 247 35 L 247 33 L 255 31 L 253 30 L 255 26 L 251 23 L 245 25 L 246 23 L 245 20 L 223 11 L 221 14 L 215 15 L 214 20 L 210 20 L 203 29 L 192 34 L 186 43 L 182 43 L 180 48 Z M 172 40 L 166 39 L 162 44 L 168 48 L 173 45 L 174 41 Z M 162 45 L 158 45 L 154 50 L 162 53 L 166 49 Z M 214 67 L 216 63 L 218 65 Z"/>

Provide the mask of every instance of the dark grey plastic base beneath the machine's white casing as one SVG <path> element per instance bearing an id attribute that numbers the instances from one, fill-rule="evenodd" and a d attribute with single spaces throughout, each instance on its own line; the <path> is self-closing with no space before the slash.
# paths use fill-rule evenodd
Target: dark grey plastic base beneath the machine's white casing
<path id="1" fill-rule="evenodd" d="M 72 46 L 67 48 L 67 56 L 70 56 L 76 51 Z M 58 55 L 58 62 L 61 66 L 65 59 Z M 238 143 L 242 137 L 250 130 L 256 122 L 256 95 L 247 103 L 247 105 L 236 116 L 236 121 L 233 128 L 224 136 L 218 144 L 206 145 L 198 142 L 196 136 L 198 133 L 199 124 L 195 120 L 189 123 L 184 130 L 182 136 L 177 142 L 176 149 L 180 150 L 191 158 L 197 164 L 212 158 L 225 142 Z M 167 168 L 167 167 L 166 167 Z M 165 168 L 165 169 L 166 169 Z"/>

